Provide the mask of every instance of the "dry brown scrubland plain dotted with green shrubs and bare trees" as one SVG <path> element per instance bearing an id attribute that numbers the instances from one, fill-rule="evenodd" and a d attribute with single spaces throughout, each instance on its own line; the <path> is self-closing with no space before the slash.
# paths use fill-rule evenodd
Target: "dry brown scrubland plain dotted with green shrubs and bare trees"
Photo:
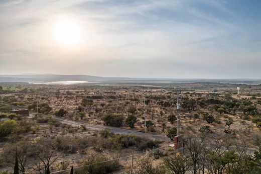
<path id="1" fill-rule="evenodd" d="M 261 146 L 258 145 L 260 139 L 256 139 L 255 135 L 261 130 L 261 106 L 258 103 L 260 96 L 254 93 L 260 86 L 254 86 L 251 91 L 245 90 L 244 95 L 249 98 L 238 99 L 229 91 L 233 84 L 182 84 L 187 86 L 186 92 L 180 94 L 180 132 L 185 146 L 182 152 L 176 153 L 172 147 L 166 149 L 166 145 L 173 143 L 177 129 L 173 89 L 165 85 L 161 91 L 158 91 L 159 87 L 141 85 L 90 85 L 85 86 L 85 90 L 80 85 L 62 88 L 50 85 L 46 89 L 22 86 L 21 89 L 27 89 L 26 95 L 25 91 L 19 91 L 16 95 L 9 91 L 11 94 L 5 96 L 4 105 L 0 106 L 0 118 L 3 119 L 0 122 L 3 147 L 0 150 L 1 171 L 13 172 L 17 147 L 20 172 L 52 172 L 61 168 L 71 170 L 72 165 L 77 167 L 119 156 L 131 156 L 132 151 L 148 154 L 134 157 L 136 169 L 130 169 L 133 173 L 202 173 L 203 169 L 205 173 L 260 172 Z M 205 90 L 217 85 L 220 86 L 216 90 L 218 94 Z M 44 90 L 48 91 L 48 97 L 46 93 L 41 93 Z M 37 116 L 35 91 L 40 94 Z M 127 129 L 125 131 L 144 132 L 144 94 L 146 127 L 151 137 L 118 134 L 119 127 Z M 29 117 L 10 113 L 11 108 L 27 106 Z M 60 118 L 54 119 L 53 115 Z M 63 123 L 60 119 L 84 124 Z M 88 124 L 118 128 L 115 132 L 112 131 L 115 128 L 97 132 Z M 167 136 L 170 142 L 152 138 L 158 139 L 159 136 Z M 253 152 L 246 153 L 244 149 L 247 148 L 253 149 Z M 75 156 L 77 161 L 73 161 Z M 62 157 L 65 161 L 61 163 Z M 125 162 L 115 160 L 104 165 L 76 168 L 74 173 L 128 172 L 129 165 L 131 157 Z"/>

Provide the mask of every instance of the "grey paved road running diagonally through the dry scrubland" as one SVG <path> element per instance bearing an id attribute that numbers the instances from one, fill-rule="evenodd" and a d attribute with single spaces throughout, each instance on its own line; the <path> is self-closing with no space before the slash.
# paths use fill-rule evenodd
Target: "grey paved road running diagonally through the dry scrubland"
<path id="1" fill-rule="evenodd" d="M 128 130 L 128 129 L 121 129 L 121 128 L 115 128 L 115 127 L 110 127 L 110 126 L 89 124 L 89 123 L 85 123 L 85 122 L 81 122 L 81 121 L 67 120 L 67 119 L 55 117 L 55 116 L 53 116 L 53 118 L 63 122 L 64 124 L 75 125 L 75 126 L 84 125 L 87 129 L 91 129 L 91 130 L 109 129 L 109 130 L 111 130 L 115 133 L 118 133 L 118 134 L 136 134 L 138 136 L 147 137 L 149 139 L 157 139 L 157 140 L 160 140 L 160 141 L 170 141 L 170 139 L 167 136 L 164 136 L 164 135 L 155 135 L 155 134 L 143 133 L 143 132 L 138 132 L 138 131 Z"/>

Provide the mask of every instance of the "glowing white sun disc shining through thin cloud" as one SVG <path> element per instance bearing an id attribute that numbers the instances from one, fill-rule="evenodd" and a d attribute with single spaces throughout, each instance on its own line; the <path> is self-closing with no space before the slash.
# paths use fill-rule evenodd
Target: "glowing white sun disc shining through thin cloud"
<path id="1" fill-rule="evenodd" d="M 74 46 L 81 40 L 81 27 L 72 19 L 60 19 L 54 25 L 55 40 L 63 46 Z"/>

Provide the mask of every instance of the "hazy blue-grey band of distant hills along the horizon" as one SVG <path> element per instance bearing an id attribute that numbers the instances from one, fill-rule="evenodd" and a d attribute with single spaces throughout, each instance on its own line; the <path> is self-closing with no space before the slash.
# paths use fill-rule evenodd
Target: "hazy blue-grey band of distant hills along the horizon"
<path id="1" fill-rule="evenodd" d="M 2 82 L 53 82 L 53 81 L 89 81 L 89 82 L 227 82 L 227 83 L 261 83 L 261 79 L 203 79 L 203 78 L 128 78 L 100 77 L 91 75 L 60 75 L 60 74 L 17 74 L 0 75 Z"/>

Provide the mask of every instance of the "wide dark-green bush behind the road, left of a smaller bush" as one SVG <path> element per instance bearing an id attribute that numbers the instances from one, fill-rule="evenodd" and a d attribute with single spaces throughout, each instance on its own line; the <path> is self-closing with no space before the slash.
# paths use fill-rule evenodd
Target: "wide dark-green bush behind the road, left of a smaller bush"
<path id="1" fill-rule="evenodd" d="M 105 125 L 120 127 L 124 118 L 120 114 L 105 114 L 101 119 Z"/>

